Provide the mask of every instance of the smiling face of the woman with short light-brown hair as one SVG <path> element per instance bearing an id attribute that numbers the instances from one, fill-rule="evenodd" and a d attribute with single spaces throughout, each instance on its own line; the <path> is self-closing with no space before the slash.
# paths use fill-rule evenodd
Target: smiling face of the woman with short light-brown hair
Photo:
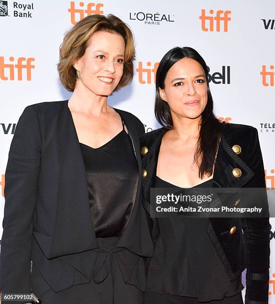
<path id="1" fill-rule="evenodd" d="M 81 77 L 76 86 L 95 95 L 110 95 L 123 74 L 124 51 L 124 40 L 119 34 L 95 32 L 85 54 L 74 64 Z"/>

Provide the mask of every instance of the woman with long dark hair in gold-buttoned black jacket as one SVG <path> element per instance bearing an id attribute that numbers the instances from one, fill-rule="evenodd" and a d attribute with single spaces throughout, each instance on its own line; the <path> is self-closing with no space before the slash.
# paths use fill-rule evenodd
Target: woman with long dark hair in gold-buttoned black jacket
<path id="1" fill-rule="evenodd" d="M 269 219 L 156 218 L 150 188 L 265 188 L 257 130 L 220 123 L 213 114 L 207 66 L 192 48 L 174 48 L 156 76 L 155 115 L 163 128 L 143 135 L 144 206 L 154 255 L 147 260 L 145 304 L 268 303 Z M 236 198 L 237 196 L 237 198 Z M 264 191 L 262 206 L 267 208 Z M 243 231 L 243 232 L 242 232 Z"/>

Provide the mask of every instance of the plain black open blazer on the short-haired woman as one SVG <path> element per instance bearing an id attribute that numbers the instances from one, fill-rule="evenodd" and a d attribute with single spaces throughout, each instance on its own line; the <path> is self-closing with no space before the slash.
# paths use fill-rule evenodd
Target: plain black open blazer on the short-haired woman
<path id="1" fill-rule="evenodd" d="M 126 283 L 144 291 L 143 257 L 153 252 L 141 205 L 139 137 L 144 126 L 134 115 L 115 110 L 131 137 L 140 173 L 134 209 L 115 257 Z M 2 293 L 31 292 L 31 260 L 55 292 L 90 282 L 97 257 L 92 249 L 98 245 L 85 165 L 68 101 L 25 108 L 10 146 L 4 194 Z M 134 271 L 137 267 L 140 273 Z"/>

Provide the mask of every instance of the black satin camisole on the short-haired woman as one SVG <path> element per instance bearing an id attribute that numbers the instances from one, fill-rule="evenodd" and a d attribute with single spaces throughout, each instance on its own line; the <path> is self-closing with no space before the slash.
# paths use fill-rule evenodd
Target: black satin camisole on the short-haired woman
<path id="1" fill-rule="evenodd" d="M 89 203 L 96 237 L 119 236 L 131 217 L 138 165 L 124 130 L 99 148 L 80 144 L 86 167 Z"/>

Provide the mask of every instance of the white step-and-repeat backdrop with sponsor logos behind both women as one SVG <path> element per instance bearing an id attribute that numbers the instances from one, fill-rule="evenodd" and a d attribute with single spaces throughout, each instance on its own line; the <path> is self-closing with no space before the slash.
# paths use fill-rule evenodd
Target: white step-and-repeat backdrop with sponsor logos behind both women
<path id="1" fill-rule="evenodd" d="M 153 111 L 158 63 L 169 49 L 190 46 L 209 67 L 216 115 L 258 129 L 267 187 L 275 188 L 274 0 L 0 0 L 0 222 L 16 122 L 29 104 L 70 98 L 58 78 L 59 46 L 66 30 L 94 13 L 117 15 L 135 36 L 133 82 L 109 98 L 111 106 L 135 114 L 147 132 L 159 128 Z M 274 219 L 270 228 L 275 303 Z"/>

